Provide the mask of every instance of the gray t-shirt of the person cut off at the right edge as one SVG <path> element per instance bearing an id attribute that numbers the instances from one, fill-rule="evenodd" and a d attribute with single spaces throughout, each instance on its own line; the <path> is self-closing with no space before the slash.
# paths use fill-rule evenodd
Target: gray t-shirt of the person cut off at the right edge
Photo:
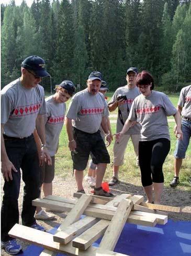
<path id="1" fill-rule="evenodd" d="M 184 87 L 179 95 L 178 106 L 182 106 L 182 115 L 191 118 L 191 85 Z"/>

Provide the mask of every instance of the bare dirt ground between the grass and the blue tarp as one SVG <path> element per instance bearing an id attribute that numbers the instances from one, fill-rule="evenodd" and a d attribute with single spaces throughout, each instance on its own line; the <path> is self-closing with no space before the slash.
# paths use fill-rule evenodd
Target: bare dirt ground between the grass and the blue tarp
<path id="1" fill-rule="evenodd" d="M 3 196 L 3 180 L 1 178 L 1 196 Z M 23 187 L 24 183 L 21 183 L 20 187 L 20 196 L 19 196 L 19 211 L 21 214 L 21 207 L 22 207 L 22 201 L 23 201 Z M 84 182 L 84 189 L 86 193 L 90 193 L 92 188 L 88 186 L 87 183 Z M 134 195 L 144 195 L 143 189 L 141 186 L 129 183 L 120 182 L 119 184 L 115 185 L 110 189 L 111 193 L 114 193 L 116 195 L 120 195 L 122 193 L 128 193 L 128 194 L 134 194 Z M 65 198 L 72 198 L 73 193 L 76 192 L 76 185 L 75 185 L 75 179 L 74 177 L 69 178 L 62 178 L 61 176 L 55 176 L 53 180 L 53 195 L 55 196 L 61 196 Z M 177 188 L 171 188 L 171 187 L 165 187 L 164 193 L 163 193 L 163 204 L 164 205 L 171 205 L 171 206 L 179 206 L 183 210 L 180 214 L 177 213 L 170 213 L 168 214 L 168 218 L 173 220 L 185 220 L 190 221 L 191 220 L 191 189 L 189 191 L 184 190 L 184 187 L 177 187 Z M 59 223 L 63 221 L 63 219 L 66 216 L 66 213 L 55 213 L 56 218 L 53 220 L 47 220 L 47 221 L 39 221 L 38 223 L 46 228 L 46 230 L 50 230 L 53 227 L 57 226 Z M 20 220 L 21 223 L 21 220 Z M 29 245 L 26 242 L 21 241 L 22 247 L 25 250 L 25 248 Z M 2 256 L 7 256 L 7 254 L 4 250 L 1 252 Z"/>

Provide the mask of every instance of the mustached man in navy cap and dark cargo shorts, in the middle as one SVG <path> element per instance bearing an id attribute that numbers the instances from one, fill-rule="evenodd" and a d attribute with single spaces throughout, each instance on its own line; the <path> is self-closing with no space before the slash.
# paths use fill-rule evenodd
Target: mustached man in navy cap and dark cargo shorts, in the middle
<path id="1" fill-rule="evenodd" d="M 83 170 L 87 166 L 90 152 L 93 163 L 97 165 L 94 194 L 98 196 L 113 196 L 102 188 L 102 180 L 106 166 L 110 163 L 109 154 L 100 135 L 102 124 L 106 140 L 111 142 L 107 124 L 108 107 L 104 95 L 99 92 L 102 74 L 93 71 L 89 74 L 87 88 L 77 92 L 72 98 L 66 114 L 66 130 L 69 137 L 69 148 L 73 160 L 73 169 L 77 184 L 77 192 L 85 193 L 83 189 Z"/>

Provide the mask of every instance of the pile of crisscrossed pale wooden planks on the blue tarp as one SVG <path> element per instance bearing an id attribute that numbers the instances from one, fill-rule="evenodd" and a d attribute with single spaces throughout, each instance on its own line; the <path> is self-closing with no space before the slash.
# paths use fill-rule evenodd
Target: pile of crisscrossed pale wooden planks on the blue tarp
<path id="1" fill-rule="evenodd" d="M 165 225 L 165 211 L 180 212 L 178 207 L 160 206 L 143 202 L 139 195 L 121 194 L 114 198 L 75 193 L 74 199 L 47 196 L 33 200 L 34 206 L 69 212 L 57 232 L 52 235 L 16 224 L 9 235 L 45 248 L 40 256 L 53 256 L 55 252 L 79 256 L 122 256 L 114 252 L 126 222 L 154 227 Z M 84 218 L 80 218 L 84 214 Z M 99 248 L 92 246 L 102 237 Z"/>

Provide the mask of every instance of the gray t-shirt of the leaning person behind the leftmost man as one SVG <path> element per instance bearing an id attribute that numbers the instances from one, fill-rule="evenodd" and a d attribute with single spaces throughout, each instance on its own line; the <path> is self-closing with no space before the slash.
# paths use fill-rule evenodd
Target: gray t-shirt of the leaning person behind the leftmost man
<path id="1" fill-rule="evenodd" d="M 64 124 L 66 110 L 65 103 L 57 103 L 53 95 L 46 99 L 47 122 L 45 124 L 47 148 L 50 156 L 54 156 L 58 151 L 59 136 Z"/>

